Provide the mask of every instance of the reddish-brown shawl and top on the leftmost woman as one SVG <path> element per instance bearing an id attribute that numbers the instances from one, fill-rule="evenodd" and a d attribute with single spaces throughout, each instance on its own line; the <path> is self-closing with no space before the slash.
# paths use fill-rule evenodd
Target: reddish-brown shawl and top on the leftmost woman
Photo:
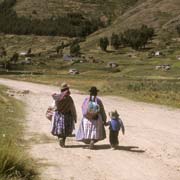
<path id="1" fill-rule="evenodd" d="M 53 94 L 53 99 L 55 100 L 56 111 L 59 111 L 63 114 L 71 113 L 74 121 L 77 121 L 77 114 L 74 105 L 74 101 L 70 96 L 69 91 L 64 91 L 60 94 Z"/>

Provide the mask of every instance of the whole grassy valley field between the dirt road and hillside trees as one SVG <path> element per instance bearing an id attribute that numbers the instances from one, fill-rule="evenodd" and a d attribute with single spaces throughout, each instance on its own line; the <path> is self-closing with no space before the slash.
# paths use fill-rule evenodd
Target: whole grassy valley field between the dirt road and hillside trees
<path id="1" fill-rule="evenodd" d="M 14 36 L 13 41 L 16 41 L 16 38 L 19 40 L 18 44 L 9 45 L 8 52 L 20 52 L 18 47 L 23 47 L 24 50 L 31 47 L 35 54 L 42 53 L 40 57 L 32 58 L 31 65 L 15 65 L 12 71 L 2 73 L 3 77 L 54 85 L 67 81 L 72 88 L 86 92 L 90 86 L 96 85 L 102 94 L 180 107 L 178 41 L 172 42 L 168 47 L 162 46 L 163 56 L 149 57 L 148 54 L 157 48 L 155 42 L 149 45 L 150 50 L 145 51 L 134 51 L 130 48 L 115 51 L 109 48 L 107 52 L 103 52 L 98 46 L 88 49 L 91 45 L 87 46 L 87 40 L 80 44 L 81 52 L 86 59 L 94 58 L 97 63 L 92 63 L 91 59 L 84 63 L 77 59 L 72 63 L 64 61 L 62 57 L 53 57 L 57 45 L 62 41 L 60 38 L 52 38 L 51 41 L 48 37 Z M 32 38 L 37 41 L 32 43 Z M 4 41 L 10 44 L 12 39 L 6 37 Z M 68 42 L 67 39 L 66 41 Z M 22 46 L 19 46 L 21 43 Z M 69 49 L 66 48 L 63 53 L 68 52 Z M 118 67 L 107 67 L 109 62 L 117 63 Z M 170 65 L 170 70 L 156 69 L 157 65 L 166 64 Z M 70 75 L 69 69 L 77 69 L 80 74 Z"/>

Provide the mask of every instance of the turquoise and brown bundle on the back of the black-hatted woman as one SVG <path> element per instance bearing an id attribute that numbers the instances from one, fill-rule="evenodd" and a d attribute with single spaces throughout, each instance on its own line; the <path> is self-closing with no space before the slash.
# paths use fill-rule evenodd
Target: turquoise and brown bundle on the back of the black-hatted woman
<path id="1" fill-rule="evenodd" d="M 99 112 L 100 112 L 100 105 L 97 103 L 95 96 L 91 96 L 87 105 L 86 117 L 89 120 L 98 119 Z"/>

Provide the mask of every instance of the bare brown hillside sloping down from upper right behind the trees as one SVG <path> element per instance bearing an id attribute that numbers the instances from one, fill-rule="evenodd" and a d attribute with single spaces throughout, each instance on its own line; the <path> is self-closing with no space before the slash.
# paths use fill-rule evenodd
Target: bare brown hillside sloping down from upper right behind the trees
<path id="1" fill-rule="evenodd" d="M 176 26 L 180 24 L 179 0 L 144 0 L 138 1 L 107 28 L 90 35 L 82 45 L 86 50 L 97 44 L 100 37 L 110 37 L 113 32 L 119 33 L 128 28 L 136 28 L 146 24 L 155 28 L 156 39 L 164 41 L 177 37 Z"/>

